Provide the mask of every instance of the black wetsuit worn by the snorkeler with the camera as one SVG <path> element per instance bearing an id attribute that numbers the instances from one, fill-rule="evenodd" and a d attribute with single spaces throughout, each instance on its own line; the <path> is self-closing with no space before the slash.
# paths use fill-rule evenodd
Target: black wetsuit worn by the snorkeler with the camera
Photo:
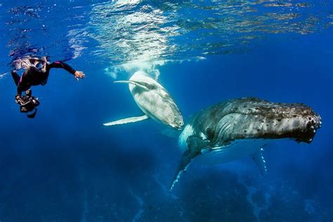
<path id="1" fill-rule="evenodd" d="M 48 74 L 51 68 L 63 68 L 71 74 L 75 73 L 75 70 L 70 65 L 63 62 L 54 62 L 46 64 L 46 72 L 41 72 L 34 67 L 29 67 L 23 72 L 20 77 L 16 72 L 11 72 L 16 86 L 18 86 L 18 95 L 21 96 L 22 91 L 27 91 L 31 86 L 45 85 L 48 79 Z"/>

